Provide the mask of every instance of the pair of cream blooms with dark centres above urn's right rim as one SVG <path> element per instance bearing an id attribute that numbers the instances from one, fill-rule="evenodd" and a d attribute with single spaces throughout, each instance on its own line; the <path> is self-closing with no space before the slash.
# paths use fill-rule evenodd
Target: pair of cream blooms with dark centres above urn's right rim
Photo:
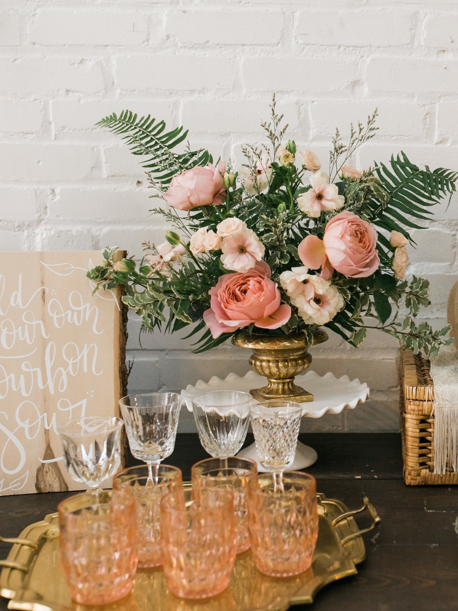
<path id="1" fill-rule="evenodd" d="M 297 267 L 280 274 L 280 284 L 306 324 L 326 324 L 345 303 L 336 287 L 327 280 Z"/>

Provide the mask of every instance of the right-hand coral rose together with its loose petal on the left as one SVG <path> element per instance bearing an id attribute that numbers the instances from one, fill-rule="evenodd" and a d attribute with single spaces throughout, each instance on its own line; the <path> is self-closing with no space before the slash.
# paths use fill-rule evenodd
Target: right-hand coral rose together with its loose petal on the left
<path id="1" fill-rule="evenodd" d="M 310 269 L 322 268 L 329 280 L 332 268 L 351 278 L 366 278 L 379 268 L 374 225 L 344 210 L 326 225 L 323 239 L 309 235 L 299 244 L 299 258 Z"/>

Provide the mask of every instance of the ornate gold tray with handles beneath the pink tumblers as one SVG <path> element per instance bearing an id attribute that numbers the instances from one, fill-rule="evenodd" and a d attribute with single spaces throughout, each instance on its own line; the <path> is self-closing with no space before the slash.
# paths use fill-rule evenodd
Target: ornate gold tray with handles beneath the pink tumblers
<path id="1" fill-rule="evenodd" d="M 134 589 L 122 601 L 104 611 L 285 611 L 291 605 L 313 602 L 324 585 L 357 573 L 355 565 L 365 558 L 362 533 L 380 521 L 374 507 L 364 499 L 361 509 L 348 511 L 338 500 L 318 494 L 318 541 L 313 563 L 296 577 L 275 578 L 259 573 L 250 551 L 238 554 L 230 587 L 203 601 L 184 601 L 169 592 L 161 568 L 137 571 Z M 368 509 L 373 522 L 358 530 L 355 513 Z M 59 521 L 51 513 L 31 524 L 0 561 L 0 595 L 9 598 L 9 609 L 30 611 L 82 611 L 97 609 L 71 601 L 59 561 Z M 100 607 L 98 607 L 100 609 Z"/>

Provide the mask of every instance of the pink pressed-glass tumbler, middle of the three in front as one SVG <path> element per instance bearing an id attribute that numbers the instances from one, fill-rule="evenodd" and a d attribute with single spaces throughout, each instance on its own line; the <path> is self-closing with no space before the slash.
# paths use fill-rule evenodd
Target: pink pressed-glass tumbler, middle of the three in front
<path id="1" fill-rule="evenodd" d="M 237 527 L 233 495 L 221 488 L 170 492 L 161 500 L 162 566 L 181 598 L 209 598 L 224 591 L 235 560 Z"/>

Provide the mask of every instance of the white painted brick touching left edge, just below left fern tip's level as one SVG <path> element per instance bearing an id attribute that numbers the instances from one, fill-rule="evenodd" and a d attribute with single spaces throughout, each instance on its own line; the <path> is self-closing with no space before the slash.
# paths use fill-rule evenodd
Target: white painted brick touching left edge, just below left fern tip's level
<path id="1" fill-rule="evenodd" d="M 59 182 L 87 177 L 93 150 L 76 144 L 0 144 L 0 159 L 5 180 Z"/>

